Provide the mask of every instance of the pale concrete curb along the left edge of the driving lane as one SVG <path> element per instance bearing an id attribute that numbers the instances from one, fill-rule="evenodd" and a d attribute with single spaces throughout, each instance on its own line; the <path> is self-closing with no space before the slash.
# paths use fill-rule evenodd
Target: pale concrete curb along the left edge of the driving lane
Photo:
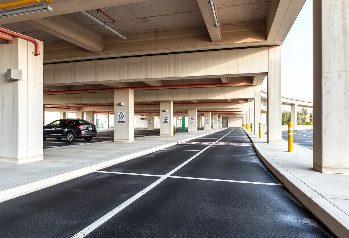
<path id="1" fill-rule="evenodd" d="M 17 185 L 9 186 L 9 187 L 6 187 L 7 189 L 0 190 L 0 203 L 3 201 L 6 201 L 6 200 L 12 199 L 12 198 L 16 198 L 16 197 L 19 197 L 19 196 L 43 189 L 43 188 L 50 187 L 52 185 L 55 185 L 55 184 L 58 184 L 61 182 L 71 180 L 71 179 L 76 178 L 76 177 L 80 177 L 80 176 L 92 173 L 96 170 L 99 170 L 99 169 L 102 169 L 105 167 L 109 167 L 111 165 L 115 165 L 115 164 L 118 164 L 118 163 L 121 163 L 121 162 L 124 162 L 127 160 L 131 160 L 131 159 L 134 159 L 134 158 L 137 158 L 140 156 L 144 156 L 144 155 L 149 154 L 149 153 L 153 153 L 153 152 L 158 151 L 158 150 L 162 150 L 164 148 L 176 145 L 178 143 L 190 141 L 190 140 L 202 137 L 202 136 L 207 136 L 207 135 L 210 135 L 210 134 L 213 134 L 216 132 L 220 132 L 221 130 L 224 130 L 224 129 L 226 129 L 226 128 L 222 128 L 220 130 L 216 130 L 214 132 L 206 133 L 203 135 L 186 138 L 186 139 L 181 140 L 181 141 L 171 142 L 171 143 L 157 146 L 154 148 L 150 148 L 148 150 L 144 150 L 141 152 L 127 154 L 127 155 L 122 156 L 122 157 L 114 157 L 114 158 L 110 158 L 110 159 L 107 159 L 104 161 L 100 161 L 100 162 L 95 163 L 95 164 L 89 164 L 86 166 L 82 166 L 80 168 L 66 170 L 64 172 L 54 174 L 53 176 L 49 175 L 49 176 L 46 176 L 46 178 L 42 177 L 42 178 L 32 180 L 29 183 L 26 183 L 23 185 L 18 186 L 18 184 L 17 184 Z"/>

